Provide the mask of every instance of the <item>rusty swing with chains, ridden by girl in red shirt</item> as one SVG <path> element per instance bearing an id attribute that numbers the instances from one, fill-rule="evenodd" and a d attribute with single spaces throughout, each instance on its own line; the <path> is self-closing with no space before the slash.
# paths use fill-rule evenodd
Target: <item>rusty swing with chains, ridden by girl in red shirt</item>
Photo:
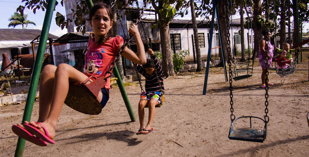
<path id="1" fill-rule="evenodd" d="M 146 0 L 143 6 L 142 14 L 143 14 L 143 11 L 146 9 L 147 4 L 148 4 L 148 1 Z M 121 16 L 117 9 L 116 0 L 111 3 L 111 7 L 116 7 L 117 18 L 121 19 Z M 141 17 L 137 19 L 136 25 L 140 21 L 141 21 Z M 120 22 L 122 24 L 121 20 Z M 131 37 L 133 37 L 133 35 L 129 33 L 129 37 L 126 37 L 125 43 L 119 50 L 119 53 L 115 57 L 114 61 L 109 65 L 109 68 L 103 77 L 96 78 L 96 77 L 91 76 L 84 82 L 70 83 L 68 95 L 66 96 L 66 100 L 64 102 L 67 106 L 69 106 L 70 108 L 73 108 L 74 110 L 78 112 L 89 114 L 89 115 L 97 115 L 102 112 L 101 104 L 96 99 L 96 96 L 99 94 L 99 91 L 102 87 L 104 87 L 104 89 L 107 90 L 105 88 L 105 84 L 107 83 L 107 79 L 112 76 L 111 70 L 114 68 L 116 60 L 119 59 L 121 53 L 125 50 L 125 47 L 129 45 L 129 41 Z M 110 75 L 106 77 L 107 74 L 110 74 Z M 91 78 L 94 78 L 95 80 L 92 81 L 90 84 L 85 85 L 85 83 Z"/>

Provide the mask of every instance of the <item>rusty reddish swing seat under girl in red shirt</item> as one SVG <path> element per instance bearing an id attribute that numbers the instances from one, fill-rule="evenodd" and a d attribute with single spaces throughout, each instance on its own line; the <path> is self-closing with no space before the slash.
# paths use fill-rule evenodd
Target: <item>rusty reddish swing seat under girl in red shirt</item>
<path id="1" fill-rule="evenodd" d="M 95 80 L 85 85 L 91 77 L 95 78 Z M 91 77 L 84 82 L 70 83 L 69 92 L 64 103 L 78 112 L 98 115 L 101 113 L 102 107 L 96 96 L 99 95 L 102 87 L 106 90 L 106 80 L 105 77 Z"/>

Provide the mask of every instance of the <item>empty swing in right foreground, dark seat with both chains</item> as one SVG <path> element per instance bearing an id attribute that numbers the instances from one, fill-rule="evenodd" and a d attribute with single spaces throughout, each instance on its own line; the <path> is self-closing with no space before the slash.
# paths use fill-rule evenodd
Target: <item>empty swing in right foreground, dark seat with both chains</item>
<path id="1" fill-rule="evenodd" d="M 232 64 L 231 64 L 231 47 L 230 47 L 230 33 L 229 33 L 229 5 L 230 3 L 227 2 L 227 16 L 226 16 L 226 22 L 227 22 L 227 45 L 228 45 L 228 52 L 229 52 L 229 82 L 230 82 L 230 104 L 231 104 L 231 128 L 229 131 L 229 139 L 234 139 L 234 140 L 242 140 L 242 141 L 250 141 L 250 142 L 263 142 L 266 139 L 266 135 L 267 135 L 267 123 L 269 122 L 269 116 L 267 116 L 268 113 L 268 84 L 266 85 L 266 94 L 265 94 L 265 116 L 264 116 L 264 120 L 262 118 L 259 117 L 255 117 L 255 116 L 242 116 L 239 118 L 235 119 L 235 115 L 233 114 L 234 112 L 234 108 L 233 108 L 233 88 L 232 88 Z M 268 2 L 266 1 L 266 6 L 268 6 Z M 268 8 L 266 7 L 266 22 L 268 22 Z M 268 52 L 269 49 L 268 47 L 266 48 L 266 52 Z M 266 60 L 268 60 L 268 57 L 266 57 Z M 266 82 L 268 82 L 268 71 L 266 72 Z M 249 118 L 250 119 L 250 127 L 247 128 L 237 128 L 237 129 L 233 129 L 235 121 L 241 118 Z M 261 128 L 252 128 L 252 119 L 256 119 L 256 120 L 261 120 L 263 121 L 264 124 L 264 129 Z M 266 120 L 267 119 L 267 120 Z"/>

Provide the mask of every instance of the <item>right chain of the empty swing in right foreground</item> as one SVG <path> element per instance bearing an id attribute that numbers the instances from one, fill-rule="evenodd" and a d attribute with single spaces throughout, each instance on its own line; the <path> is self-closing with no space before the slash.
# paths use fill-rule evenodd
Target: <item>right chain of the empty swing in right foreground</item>
<path id="1" fill-rule="evenodd" d="M 266 54 L 268 54 L 269 53 L 269 47 L 268 47 L 268 45 L 269 45 L 269 35 L 268 35 L 268 33 L 269 33 L 269 4 L 268 4 L 268 0 L 266 0 L 266 5 L 265 5 L 265 18 L 266 18 L 266 21 L 265 21 L 265 25 L 266 25 L 266 32 L 267 32 L 267 38 L 266 38 L 266 41 L 265 41 L 265 44 L 266 44 L 266 42 L 267 42 L 267 45 L 265 46 L 265 51 L 266 51 Z M 269 74 L 269 71 L 268 71 L 268 67 L 270 66 L 269 65 L 269 63 L 268 63 L 268 61 L 269 61 L 269 58 L 268 58 L 268 55 L 266 55 L 266 69 L 267 69 L 267 71 L 266 71 L 266 78 L 265 78 L 265 91 L 266 91 L 266 93 L 265 93 L 265 116 L 264 116 L 264 120 L 265 120 L 265 123 L 268 123 L 269 122 L 269 116 L 267 116 L 267 113 L 268 113 L 268 97 L 269 97 L 269 95 L 268 95 L 268 81 L 269 81 L 269 79 L 268 79 L 268 74 Z M 266 120 L 267 119 L 267 120 Z"/>

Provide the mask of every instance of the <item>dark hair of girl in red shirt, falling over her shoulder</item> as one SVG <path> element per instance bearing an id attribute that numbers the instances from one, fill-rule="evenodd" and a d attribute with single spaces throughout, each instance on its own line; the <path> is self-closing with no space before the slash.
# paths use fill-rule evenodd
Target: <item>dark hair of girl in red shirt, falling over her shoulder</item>
<path id="1" fill-rule="evenodd" d="M 95 15 L 95 12 L 99 9 L 106 9 L 109 18 L 111 19 L 111 22 L 113 21 L 113 14 L 112 14 L 112 8 L 110 6 L 108 6 L 106 3 L 97 3 L 95 4 L 91 10 L 89 11 L 89 19 L 91 20 L 92 17 Z M 103 44 L 104 42 L 108 41 L 108 39 L 112 37 L 112 31 L 108 31 L 108 33 L 105 36 L 101 36 L 99 41 L 98 41 L 98 45 Z"/>

